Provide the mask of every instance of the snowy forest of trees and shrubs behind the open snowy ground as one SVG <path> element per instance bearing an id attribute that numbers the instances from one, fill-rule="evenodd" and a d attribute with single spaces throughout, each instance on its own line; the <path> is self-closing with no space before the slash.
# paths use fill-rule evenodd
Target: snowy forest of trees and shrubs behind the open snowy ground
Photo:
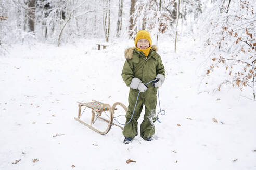
<path id="1" fill-rule="evenodd" d="M 223 85 L 244 90 L 255 100 L 255 3 L 249 0 L 1 0 L 0 53 L 17 43 L 61 46 L 79 39 L 125 41 L 138 30 L 153 41 L 196 40 L 206 56 L 202 84 L 222 77 Z M 204 89 L 206 90 L 206 89 Z"/>

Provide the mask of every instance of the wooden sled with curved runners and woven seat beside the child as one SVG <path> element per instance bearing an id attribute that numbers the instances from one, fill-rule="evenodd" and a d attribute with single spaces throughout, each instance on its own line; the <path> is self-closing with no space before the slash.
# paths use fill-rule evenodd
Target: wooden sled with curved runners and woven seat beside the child
<path id="1" fill-rule="evenodd" d="M 124 111 L 125 111 L 125 114 L 127 112 L 127 107 L 120 103 L 120 102 L 116 102 L 113 104 L 113 106 L 111 107 L 109 104 L 104 104 L 104 103 L 101 103 L 99 101 L 96 101 L 96 100 L 93 100 L 93 102 L 88 102 L 88 103 L 81 103 L 81 102 L 78 102 L 78 106 L 79 106 L 79 110 L 78 110 L 78 117 L 77 118 L 74 118 L 75 120 L 79 121 L 80 123 L 82 123 L 83 125 L 86 125 L 87 127 L 91 128 L 92 130 L 94 130 L 95 132 L 98 132 L 100 133 L 101 135 L 105 135 L 109 132 L 112 124 L 113 125 L 116 125 L 118 127 L 120 127 L 121 129 L 123 129 L 122 126 L 120 125 L 117 125 L 117 124 L 114 124 L 113 123 L 113 115 L 114 115 L 114 110 L 117 110 L 116 106 L 117 105 L 120 105 Z M 91 124 L 87 124 L 85 122 L 83 122 L 80 117 L 82 116 L 81 115 L 81 108 L 82 107 L 86 107 L 86 108 L 91 108 L 92 109 L 92 118 L 91 118 Z M 103 118 L 101 116 L 101 114 L 103 112 L 106 113 L 106 111 L 109 111 L 109 116 L 108 118 Z M 100 131 L 98 129 L 96 129 L 95 127 L 92 126 L 92 124 L 94 124 L 94 122 L 96 121 L 95 120 L 95 116 L 96 116 L 96 120 L 99 118 L 101 120 L 104 120 L 106 122 L 108 122 L 108 126 L 107 126 L 107 129 L 105 131 Z"/>

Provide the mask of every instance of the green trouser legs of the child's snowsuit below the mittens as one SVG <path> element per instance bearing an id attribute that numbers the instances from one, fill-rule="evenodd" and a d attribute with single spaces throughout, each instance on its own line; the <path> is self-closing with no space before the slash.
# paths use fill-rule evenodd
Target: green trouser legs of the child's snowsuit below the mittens
<path id="1" fill-rule="evenodd" d="M 128 111 L 125 115 L 126 122 L 132 117 L 134 106 L 138 96 L 138 90 L 131 89 L 129 93 L 129 106 Z M 138 135 L 138 118 L 140 117 L 140 113 L 142 112 L 143 105 L 145 105 L 145 114 L 142 124 L 140 124 L 140 136 L 143 139 L 148 137 L 152 137 L 155 134 L 155 125 L 156 122 L 156 106 L 157 106 L 157 96 L 156 89 L 153 87 L 149 88 L 146 92 L 140 93 L 138 97 L 138 102 L 134 111 L 134 115 L 130 123 L 124 126 L 123 135 L 124 137 L 134 138 Z"/>

